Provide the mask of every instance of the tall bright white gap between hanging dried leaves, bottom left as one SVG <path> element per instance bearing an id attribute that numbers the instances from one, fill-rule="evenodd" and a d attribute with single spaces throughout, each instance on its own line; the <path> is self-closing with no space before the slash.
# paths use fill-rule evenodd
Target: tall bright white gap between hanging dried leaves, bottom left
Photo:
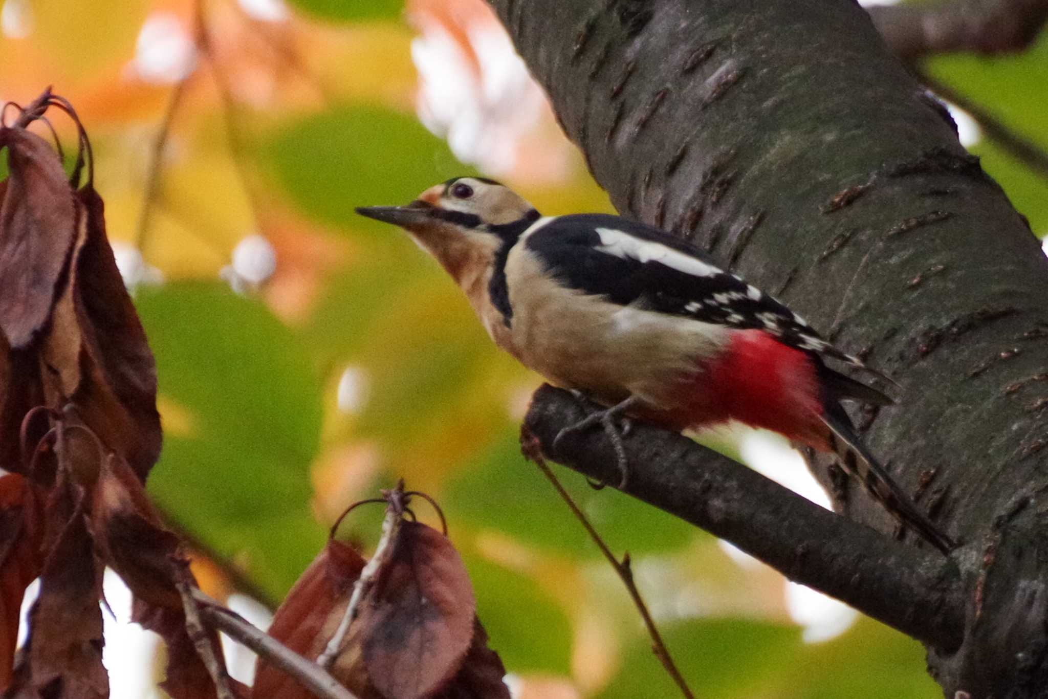
<path id="1" fill-rule="evenodd" d="M 105 607 L 102 608 L 103 633 L 106 636 L 102 663 L 109 672 L 109 696 L 111 699 L 162 696 L 153 677 L 160 637 L 131 622 L 131 590 L 109 568 L 102 578 L 102 589 L 113 612 L 110 615 Z"/>

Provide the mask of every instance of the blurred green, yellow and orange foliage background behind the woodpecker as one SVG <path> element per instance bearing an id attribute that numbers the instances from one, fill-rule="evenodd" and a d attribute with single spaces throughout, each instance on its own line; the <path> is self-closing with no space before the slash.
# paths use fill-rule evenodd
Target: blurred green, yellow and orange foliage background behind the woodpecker
<path id="1" fill-rule="evenodd" d="M 0 5 L 0 100 L 53 84 L 90 133 L 159 373 L 166 443 L 149 488 L 197 547 L 204 588 L 254 596 L 264 622 L 339 514 L 402 477 L 444 507 L 517 696 L 673 696 L 626 592 L 520 456 L 539 379 L 494 350 L 406 236 L 353 213 L 475 172 L 546 213 L 611 211 L 483 2 Z M 1044 38 L 1022 56 L 926 68 L 1048 149 Z M 1048 233 L 1043 176 L 958 119 Z M 774 440 L 726 438 L 755 465 L 806 478 Z M 564 479 L 611 547 L 630 551 L 699 696 L 939 696 L 915 641 Z M 342 536 L 367 549 L 379 520 L 358 509 Z M 147 696 L 155 665 L 122 655 L 125 638 L 140 642 L 107 633 L 110 669 L 130 678 L 113 696 Z"/>

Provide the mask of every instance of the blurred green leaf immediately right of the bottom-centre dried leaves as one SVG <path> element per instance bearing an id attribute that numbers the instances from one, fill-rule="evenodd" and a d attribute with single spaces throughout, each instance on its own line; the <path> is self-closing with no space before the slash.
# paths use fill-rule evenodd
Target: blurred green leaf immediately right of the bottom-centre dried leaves
<path id="1" fill-rule="evenodd" d="M 511 673 L 567 675 L 571 656 L 571 624 L 533 578 L 463 554 L 474 592 L 477 616 Z"/>

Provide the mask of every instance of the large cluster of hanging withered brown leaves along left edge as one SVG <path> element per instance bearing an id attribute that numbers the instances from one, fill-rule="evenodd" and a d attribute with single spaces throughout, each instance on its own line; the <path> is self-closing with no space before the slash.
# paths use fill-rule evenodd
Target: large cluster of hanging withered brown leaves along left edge
<path id="1" fill-rule="evenodd" d="M 71 176 L 28 130 L 54 108 L 81 148 Z M 102 578 L 113 568 L 134 593 L 134 616 L 169 645 L 166 687 L 215 697 L 191 640 L 178 539 L 144 483 L 160 451 L 156 373 L 106 238 L 86 135 L 71 106 L 45 91 L 0 124 L 9 175 L 0 182 L 0 686 L 4 697 L 109 696 L 102 664 Z M 16 653 L 28 584 L 40 593 Z M 221 654 L 218 653 L 218 657 Z M 241 695 L 246 696 L 241 690 Z"/>

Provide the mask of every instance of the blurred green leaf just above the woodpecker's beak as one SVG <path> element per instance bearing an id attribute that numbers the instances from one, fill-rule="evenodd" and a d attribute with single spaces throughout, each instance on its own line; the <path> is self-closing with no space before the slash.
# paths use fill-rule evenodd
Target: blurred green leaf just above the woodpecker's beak
<path id="1" fill-rule="evenodd" d="M 309 216 L 384 235 L 389 224 L 354 207 L 406 204 L 433 184 L 474 172 L 417 118 L 381 107 L 342 106 L 303 117 L 277 133 L 263 153 Z"/>

